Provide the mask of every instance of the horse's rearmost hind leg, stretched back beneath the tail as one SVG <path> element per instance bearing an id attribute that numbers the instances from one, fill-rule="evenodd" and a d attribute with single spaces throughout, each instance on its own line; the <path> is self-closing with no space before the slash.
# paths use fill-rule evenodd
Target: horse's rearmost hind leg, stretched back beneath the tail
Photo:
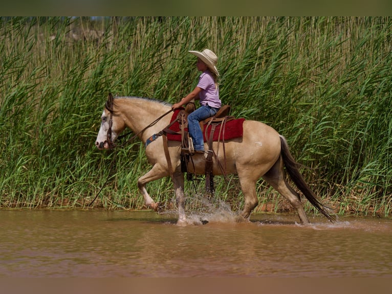
<path id="1" fill-rule="evenodd" d="M 309 219 L 303 209 L 299 195 L 287 183 L 285 179 L 283 161 L 281 157 L 275 162 L 271 169 L 263 176 L 263 178 L 275 188 L 276 191 L 285 197 L 294 207 L 302 224 L 309 224 Z"/>

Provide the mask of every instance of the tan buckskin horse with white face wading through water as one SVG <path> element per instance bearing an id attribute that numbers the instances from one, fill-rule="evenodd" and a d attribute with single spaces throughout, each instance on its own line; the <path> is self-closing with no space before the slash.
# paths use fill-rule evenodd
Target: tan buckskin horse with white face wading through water
<path id="1" fill-rule="evenodd" d="M 160 133 L 170 123 L 171 104 L 153 98 L 109 95 L 101 116 L 101 125 L 95 142 L 99 150 L 113 148 L 115 140 L 124 129 L 128 128 L 139 137 L 143 143 L 150 140 L 151 135 Z M 146 184 L 151 181 L 171 176 L 176 201 L 178 205 L 178 225 L 186 225 L 184 197 L 184 173 L 181 169 L 181 142 L 167 140 L 165 156 L 163 136 L 158 136 L 146 145 L 145 154 L 153 166 L 145 175 L 138 178 L 137 186 L 144 198 L 146 207 L 158 211 L 159 205 L 154 202 L 146 190 Z M 278 134 L 269 125 L 254 121 L 243 122 L 243 136 L 224 142 L 213 142 L 219 162 L 226 160 L 226 173 L 236 174 L 244 195 L 244 208 L 237 218 L 249 221 L 251 212 L 258 205 L 256 182 L 263 178 L 275 190 L 284 196 L 294 207 L 301 224 L 309 224 L 309 219 L 300 201 L 299 194 L 288 184 L 284 167 L 292 181 L 302 194 L 317 210 L 331 222 L 335 218 L 329 213 L 314 192 L 304 181 L 297 163 L 289 151 L 284 136 Z M 206 149 L 207 150 L 207 146 Z M 225 154 L 224 154 L 225 153 Z M 170 158 L 168 162 L 167 158 Z M 192 163 L 188 164 L 188 172 L 204 175 L 206 159 L 204 154 L 194 154 Z M 222 169 L 213 158 L 213 175 L 222 175 Z M 171 170 L 169 170 L 169 168 Z"/>

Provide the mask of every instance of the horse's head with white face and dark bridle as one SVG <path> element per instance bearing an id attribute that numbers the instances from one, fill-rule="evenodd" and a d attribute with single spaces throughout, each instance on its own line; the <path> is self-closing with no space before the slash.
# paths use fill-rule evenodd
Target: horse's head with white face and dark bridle
<path id="1" fill-rule="evenodd" d="M 101 127 L 95 141 L 95 145 L 100 150 L 114 148 L 114 141 L 125 128 L 123 120 L 116 115 L 114 107 L 113 95 L 109 93 L 101 116 Z"/>

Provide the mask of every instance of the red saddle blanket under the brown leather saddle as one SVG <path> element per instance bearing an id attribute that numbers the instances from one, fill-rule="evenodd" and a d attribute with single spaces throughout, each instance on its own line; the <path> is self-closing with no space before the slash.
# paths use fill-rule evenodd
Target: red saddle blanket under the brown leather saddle
<path id="1" fill-rule="evenodd" d="M 170 122 L 173 120 L 177 119 L 177 115 L 180 110 L 176 110 L 172 117 Z M 237 118 L 233 120 L 229 120 L 225 124 L 225 130 L 221 131 L 222 124 L 219 124 L 215 128 L 215 132 L 213 134 L 213 141 L 218 141 L 218 140 L 230 140 L 238 137 L 242 137 L 243 134 L 243 123 L 245 121 L 245 118 Z M 209 139 L 210 133 L 211 133 L 211 125 L 209 125 L 207 129 L 207 138 L 205 134 L 205 130 L 203 130 L 203 137 L 204 137 L 204 142 L 206 142 Z M 169 128 L 172 131 L 175 132 L 180 132 L 180 123 L 175 122 L 171 125 Z M 185 129 L 188 131 L 188 129 Z M 224 137 L 223 137 L 224 136 Z M 167 139 L 172 140 L 172 141 L 181 141 L 181 133 L 180 134 L 167 134 Z"/>

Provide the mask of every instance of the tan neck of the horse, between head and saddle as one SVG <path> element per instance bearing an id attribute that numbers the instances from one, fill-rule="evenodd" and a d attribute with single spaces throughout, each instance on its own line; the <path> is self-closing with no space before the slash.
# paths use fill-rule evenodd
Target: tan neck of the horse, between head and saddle
<path id="1" fill-rule="evenodd" d="M 144 98 L 117 98 L 115 103 L 116 111 L 123 118 L 125 126 L 135 134 L 139 134 L 151 122 L 170 110 L 168 105 Z M 139 138 L 145 142 L 151 135 L 162 131 L 170 123 L 170 118 L 170 114 L 162 117 L 157 123 L 139 134 Z"/>

